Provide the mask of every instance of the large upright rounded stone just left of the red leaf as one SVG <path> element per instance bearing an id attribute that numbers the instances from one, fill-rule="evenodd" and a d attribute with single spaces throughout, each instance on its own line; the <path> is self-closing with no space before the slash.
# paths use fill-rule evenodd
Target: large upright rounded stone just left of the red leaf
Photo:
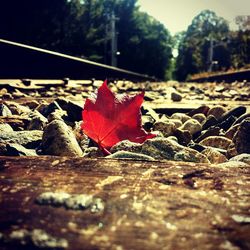
<path id="1" fill-rule="evenodd" d="M 42 150 L 44 154 L 58 156 L 82 156 L 83 154 L 72 129 L 61 120 L 54 120 L 45 127 Z"/>

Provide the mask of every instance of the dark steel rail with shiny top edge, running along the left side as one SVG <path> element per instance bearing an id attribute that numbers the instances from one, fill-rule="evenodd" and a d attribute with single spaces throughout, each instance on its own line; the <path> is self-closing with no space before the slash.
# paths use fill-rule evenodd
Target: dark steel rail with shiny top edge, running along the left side
<path id="1" fill-rule="evenodd" d="M 3 39 L 0 39 L 0 59 L 0 79 L 156 81 L 148 75 Z"/>

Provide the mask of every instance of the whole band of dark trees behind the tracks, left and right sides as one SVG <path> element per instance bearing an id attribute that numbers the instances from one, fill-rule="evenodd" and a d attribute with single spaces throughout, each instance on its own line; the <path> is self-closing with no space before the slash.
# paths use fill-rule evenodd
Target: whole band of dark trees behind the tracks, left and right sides
<path id="1" fill-rule="evenodd" d="M 185 80 L 210 69 L 250 64 L 249 30 L 232 32 L 226 20 L 206 10 L 187 31 L 171 36 L 140 11 L 137 0 L 2 0 L 0 38 L 110 64 L 111 13 L 120 68 Z"/>

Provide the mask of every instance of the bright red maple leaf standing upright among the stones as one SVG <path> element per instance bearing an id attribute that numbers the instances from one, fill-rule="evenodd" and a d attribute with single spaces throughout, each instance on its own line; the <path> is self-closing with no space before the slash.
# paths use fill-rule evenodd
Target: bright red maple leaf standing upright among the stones
<path id="1" fill-rule="evenodd" d="M 143 143 L 156 135 L 147 133 L 141 126 L 144 93 L 135 96 L 115 96 L 104 81 L 96 98 L 87 99 L 82 111 L 83 132 L 94 140 L 104 152 L 117 142 L 130 140 Z"/>

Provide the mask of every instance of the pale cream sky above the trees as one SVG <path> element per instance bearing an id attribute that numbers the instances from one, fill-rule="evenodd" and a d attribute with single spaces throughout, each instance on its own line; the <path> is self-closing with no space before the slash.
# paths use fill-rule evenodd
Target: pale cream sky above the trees
<path id="1" fill-rule="evenodd" d="M 250 15 L 250 0 L 138 0 L 140 10 L 156 18 L 172 35 L 185 31 L 202 10 L 210 9 L 236 29 L 237 15 Z"/>

